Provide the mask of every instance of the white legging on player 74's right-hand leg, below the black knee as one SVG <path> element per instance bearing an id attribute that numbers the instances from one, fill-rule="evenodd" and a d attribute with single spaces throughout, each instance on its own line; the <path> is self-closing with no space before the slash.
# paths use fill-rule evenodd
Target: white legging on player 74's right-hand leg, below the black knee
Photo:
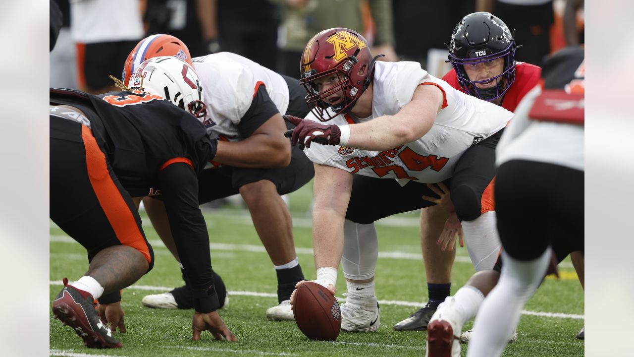
<path id="1" fill-rule="evenodd" d="M 465 244 L 475 271 L 493 269 L 501 243 L 494 211 L 484 212 L 474 220 L 463 220 Z"/>

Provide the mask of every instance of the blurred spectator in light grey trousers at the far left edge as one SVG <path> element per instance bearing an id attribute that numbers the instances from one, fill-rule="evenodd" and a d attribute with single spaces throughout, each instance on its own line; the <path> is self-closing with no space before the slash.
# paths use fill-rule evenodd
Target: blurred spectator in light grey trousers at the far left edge
<path id="1" fill-rule="evenodd" d="M 49 55 L 49 86 L 57 88 L 77 89 L 77 62 L 75 60 L 75 43 L 70 36 L 70 4 L 68 0 L 51 0 L 53 6 L 61 10 L 61 28 L 59 29 L 55 47 Z M 60 13 L 58 13 L 59 15 Z M 51 25 L 53 20 L 51 20 Z M 52 43 L 51 43 L 52 44 Z"/>

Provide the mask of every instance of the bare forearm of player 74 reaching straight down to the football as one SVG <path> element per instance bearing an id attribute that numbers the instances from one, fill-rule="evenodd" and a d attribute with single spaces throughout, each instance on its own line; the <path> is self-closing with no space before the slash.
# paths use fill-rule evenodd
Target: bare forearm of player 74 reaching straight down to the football
<path id="1" fill-rule="evenodd" d="M 315 267 L 339 269 L 344 252 L 344 219 L 353 175 L 332 166 L 315 164 L 313 250 Z"/>

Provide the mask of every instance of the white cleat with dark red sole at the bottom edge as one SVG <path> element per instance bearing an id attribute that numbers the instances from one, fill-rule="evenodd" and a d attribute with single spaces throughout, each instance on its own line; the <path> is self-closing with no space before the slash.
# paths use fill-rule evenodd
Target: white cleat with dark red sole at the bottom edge
<path id="1" fill-rule="evenodd" d="M 453 297 L 447 297 L 430 318 L 425 357 L 460 357 L 458 335 L 462 330 L 462 321 L 453 309 L 454 304 Z"/>

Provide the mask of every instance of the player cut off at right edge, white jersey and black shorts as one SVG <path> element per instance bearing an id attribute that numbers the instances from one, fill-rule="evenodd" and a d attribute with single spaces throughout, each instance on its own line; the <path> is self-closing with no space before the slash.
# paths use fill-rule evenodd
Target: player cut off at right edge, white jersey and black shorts
<path id="1" fill-rule="evenodd" d="M 568 47 L 544 62 L 543 86 L 522 100 L 496 151 L 503 266 L 475 318 L 469 357 L 501 355 L 547 272 L 549 246 L 584 251 L 583 61 L 583 48 Z"/>

